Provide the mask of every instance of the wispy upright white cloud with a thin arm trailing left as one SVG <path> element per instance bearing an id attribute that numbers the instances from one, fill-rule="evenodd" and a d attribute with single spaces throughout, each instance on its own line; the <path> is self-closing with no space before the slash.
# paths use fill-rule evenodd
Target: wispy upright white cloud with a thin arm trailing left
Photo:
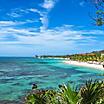
<path id="1" fill-rule="evenodd" d="M 39 10 L 36 8 L 29 8 L 29 9 L 16 8 L 11 10 L 11 12 L 8 13 L 7 15 L 10 17 L 18 18 L 30 12 L 38 13 L 40 15 L 39 20 L 42 24 L 40 26 L 40 32 L 43 32 L 48 28 L 48 22 L 49 22 L 48 13 L 52 10 L 52 8 L 54 8 L 55 4 L 56 4 L 56 0 L 44 0 L 44 2 L 40 5 L 42 8 L 44 8 L 43 10 Z"/>

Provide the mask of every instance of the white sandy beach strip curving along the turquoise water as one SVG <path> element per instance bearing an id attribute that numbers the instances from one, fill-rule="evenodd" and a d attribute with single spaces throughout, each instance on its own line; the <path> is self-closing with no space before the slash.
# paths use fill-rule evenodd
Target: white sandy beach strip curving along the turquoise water
<path id="1" fill-rule="evenodd" d="M 98 64 L 90 64 L 88 62 L 78 62 L 78 61 L 64 61 L 64 63 L 66 64 L 70 64 L 70 65 L 75 65 L 75 66 L 82 66 L 82 67 L 88 67 L 88 68 L 94 68 L 94 69 L 99 69 L 99 70 L 103 70 L 103 65 L 98 65 Z"/>

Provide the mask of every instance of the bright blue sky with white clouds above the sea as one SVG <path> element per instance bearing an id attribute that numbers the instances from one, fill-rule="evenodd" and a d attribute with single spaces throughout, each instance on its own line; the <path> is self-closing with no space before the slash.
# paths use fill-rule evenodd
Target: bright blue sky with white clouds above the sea
<path id="1" fill-rule="evenodd" d="M 84 0 L 0 0 L 0 56 L 68 55 L 104 49 L 103 27 Z"/>

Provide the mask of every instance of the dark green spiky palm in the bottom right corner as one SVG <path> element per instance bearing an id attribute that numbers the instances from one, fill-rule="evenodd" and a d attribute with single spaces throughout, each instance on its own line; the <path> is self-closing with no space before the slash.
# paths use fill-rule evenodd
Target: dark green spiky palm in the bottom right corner
<path id="1" fill-rule="evenodd" d="M 102 104 L 104 97 L 104 83 L 87 81 L 80 90 L 80 104 Z"/>

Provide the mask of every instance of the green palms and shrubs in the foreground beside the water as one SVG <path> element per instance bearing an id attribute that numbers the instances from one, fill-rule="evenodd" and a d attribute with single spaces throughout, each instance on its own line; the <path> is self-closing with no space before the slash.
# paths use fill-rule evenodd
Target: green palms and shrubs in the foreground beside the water
<path id="1" fill-rule="evenodd" d="M 104 104 L 104 82 L 87 81 L 78 91 L 70 85 L 59 85 L 59 90 L 33 89 L 26 96 L 26 104 Z"/>

